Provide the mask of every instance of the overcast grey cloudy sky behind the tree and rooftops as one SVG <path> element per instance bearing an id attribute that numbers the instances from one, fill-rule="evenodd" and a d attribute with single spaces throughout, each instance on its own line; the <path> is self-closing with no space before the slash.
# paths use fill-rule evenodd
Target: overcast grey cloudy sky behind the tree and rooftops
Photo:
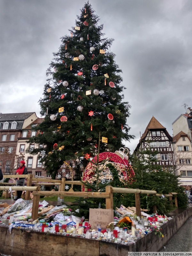
<path id="1" fill-rule="evenodd" d="M 152 116 L 172 136 L 172 122 L 192 107 L 192 1 L 89 1 L 115 41 L 111 51 L 122 69 L 127 123 L 135 140 Z M 70 35 L 83 0 L 0 0 L 0 112 L 33 112 L 46 83 L 46 69 Z"/>

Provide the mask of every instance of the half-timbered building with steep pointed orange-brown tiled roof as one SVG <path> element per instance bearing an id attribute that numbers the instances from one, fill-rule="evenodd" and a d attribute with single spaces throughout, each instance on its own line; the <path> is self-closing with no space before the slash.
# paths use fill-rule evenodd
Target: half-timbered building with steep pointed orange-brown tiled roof
<path id="1" fill-rule="evenodd" d="M 155 164 L 162 165 L 164 170 L 174 170 L 172 137 L 154 116 L 148 123 L 134 152 L 141 157 L 140 152 L 147 149 L 150 149 L 151 152 L 158 151 L 158 154 L 153 156 Z M 146 155 L 146 157 L 148 156 Z"/>

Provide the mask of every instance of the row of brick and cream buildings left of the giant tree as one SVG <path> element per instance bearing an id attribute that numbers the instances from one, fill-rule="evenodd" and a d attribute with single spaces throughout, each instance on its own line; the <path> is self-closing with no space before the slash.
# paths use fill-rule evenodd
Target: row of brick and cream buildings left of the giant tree
<path id="1" fill-rule="evenodd" d="M 2 172 L 6 174 L 15 174 L 19 167 L 19 162 L 24 160 L 28 168 L 28 173 L 37 176 L 46 176 L 38 156 L 31 156 L 26 153 L 31 136 L 36 136 L 33 127 L 42 122 L 35 112 L 0 114 L 0 162 Z M 40 145 L 30 145 L 37 147 Z"/>

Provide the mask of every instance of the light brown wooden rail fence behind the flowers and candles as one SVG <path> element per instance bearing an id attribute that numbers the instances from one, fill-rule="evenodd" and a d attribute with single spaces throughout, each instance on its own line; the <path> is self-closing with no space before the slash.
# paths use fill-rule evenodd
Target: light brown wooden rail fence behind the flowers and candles
<path id="1" fill-rule="evenodd" d="M 18 175 L 6 175 L 7 178 L 18 178 Z M 35 220 L 38 218 L 38 207 L 39 207 L 39 199 L 40 196 L 58 196 L 60 198 L 60 202 L 64 202 L 64 196 L 73 196 L 73 197 L 90 197 L 90 198 L 105 198 L 106 200 L 106 209 L 113 209 L 113 193 L 132 193 L 135 194 L 135 207 L 136 214 L 140 216 L 140 194 L 149 194 L 154 196 L 161 197 L 161 194 L 157 194 L 155 190 L 143 190 L 143 189 L 132 189 L 132 188 L 114 188 L 112 186 L 106 186 L 105 192 L 88 192 L 85 188 L 84 192 L 75 192 L 75 191 L 65 191 L 66 184 L 72 185 L 84 185 L 82 181 L 66 181 L 65 178 L 61 180 L 51 180 L 44 178 L 33 178 L 32 174 L 20 175 L 20 178 L 27 178 L 27 187 L 16 187 L 12 186 L 12 190 L 25 190 L 25 200 L 30 199 L 30 192 L 33 191 L 33 207 L 32 207 L 32 219 Z M 46 183 L 38 183 L 38 182 L 46 182 Z M 13 185 L 13 183 L 0 183 L 6 185 Z M 37 186 L 32 187 L 32 184 Z M 40 186 L 38 185 L 59 185 L 59 191 L 40 191 Z M 47 186 L 47 185 L 46 185 Z M 9 190 L 9 186 L 0 186 L 0 190 Z M 177 205 L 177 193 L 169 193 L 168 195 L 164 195 L 165 197 L 169 197 L 170 203 L 172 204 L 172 196 L 174 196 L 175 206 Z M 153 212 L 156 213 L 156 205 L 153 206 Z"/>

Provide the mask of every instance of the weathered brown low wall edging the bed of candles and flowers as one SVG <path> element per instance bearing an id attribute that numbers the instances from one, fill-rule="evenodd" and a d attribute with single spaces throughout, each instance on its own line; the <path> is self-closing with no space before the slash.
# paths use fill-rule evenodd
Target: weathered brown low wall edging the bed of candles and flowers
<path id="1" fill-rule="evenodd" d="M 162 226 L 164 237 L 154 232 L 130 246 L 91 239 L 67 237 L 22 229 L 0 227 L 0 253 L 12 256 L 127 256 L 128 252 L 158 252 L 192 216 L 192 207 Z"/>

